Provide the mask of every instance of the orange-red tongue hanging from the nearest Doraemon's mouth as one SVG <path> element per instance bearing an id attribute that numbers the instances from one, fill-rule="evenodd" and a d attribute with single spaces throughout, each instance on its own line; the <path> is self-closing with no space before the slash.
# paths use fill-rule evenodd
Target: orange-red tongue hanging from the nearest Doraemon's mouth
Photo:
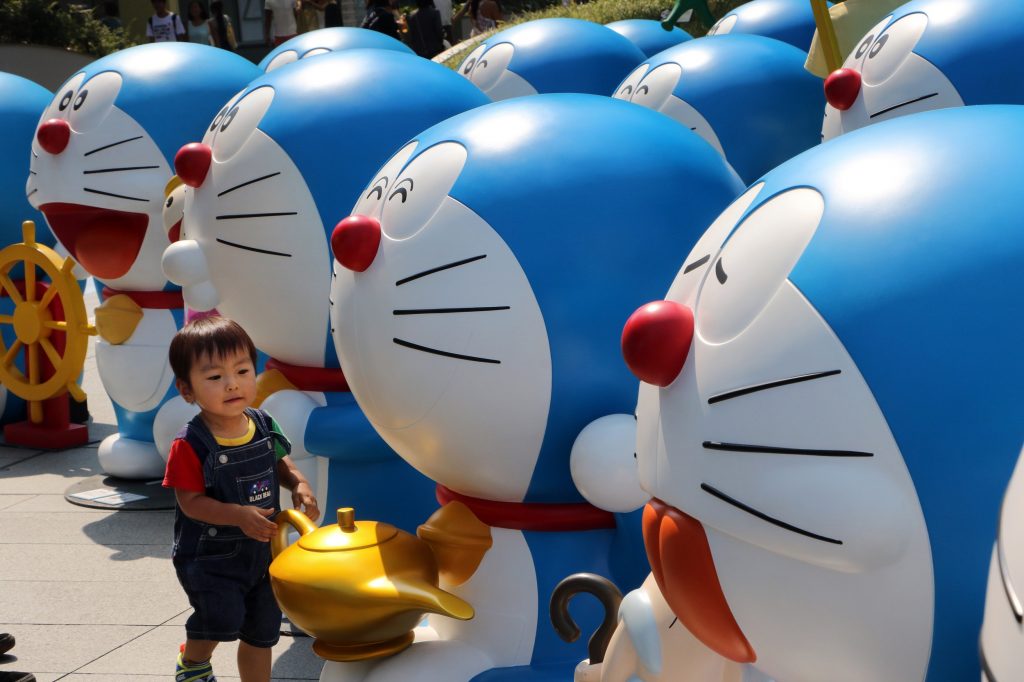
<path id="1" fill-rule="evenodd" d="M 657 587 L 686 629 L 726 658 L 757 660 L 722 594 L 700 522 L 654 499 L 643 510 L 643 539 Z"/>

